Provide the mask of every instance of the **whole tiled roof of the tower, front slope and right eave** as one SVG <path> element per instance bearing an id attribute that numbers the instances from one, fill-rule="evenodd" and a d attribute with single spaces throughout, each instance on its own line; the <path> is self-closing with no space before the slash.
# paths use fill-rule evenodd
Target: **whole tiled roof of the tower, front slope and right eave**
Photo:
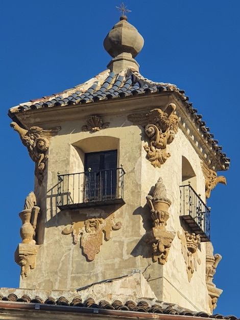
<path id="1" fill-rule="evenodd" d="M 21 103 L 9 110 L 9 117 L 14 118 L 17 113 L 28 110 L 81 105 L 115 98 L 162 92 L 175 92 L 178 95 L 179 99 L 184 103 L 189 116 L 195 118 L 199 124 L 199 129 L 204 139 L 219 154 L 221 163 L 223 164 L 222 170 L 227 170 L 230 158 L 226 157 L 226 154 L 221 151 L 222 146 L 218 145 L 218 140 L 214 140 L 214 135 L 210 133 L 210 129 L 206 126 L 205 121 L 202 121 L 202 115 L 199 115 L 197 113 L 198 110 L 193 108 L 193 103 L 188 102 L 189 98 L 185 96 L 184 90 L 180 90 L 176 85 L 171 83 L 148 80 L 131 68 L 119 74 L 106 70 L 74 88 L 64 90 L 52 96 Z"/>

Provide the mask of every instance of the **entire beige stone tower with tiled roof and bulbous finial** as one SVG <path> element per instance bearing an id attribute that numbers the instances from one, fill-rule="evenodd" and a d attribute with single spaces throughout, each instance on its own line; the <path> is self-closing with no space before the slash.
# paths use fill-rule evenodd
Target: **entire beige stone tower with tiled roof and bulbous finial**
<path id="1" fill-rule="evenodd" d="M 206 200 L 229 158 L 183 90 L 140 75 L 142 46 L 122 16 L 104 40 L 106 71 L 9 110 L 36 177 L 19 214 L 20 288 L 84 295 L 94 284 L 109 302 L 211 313 L 221 256 Z"/>

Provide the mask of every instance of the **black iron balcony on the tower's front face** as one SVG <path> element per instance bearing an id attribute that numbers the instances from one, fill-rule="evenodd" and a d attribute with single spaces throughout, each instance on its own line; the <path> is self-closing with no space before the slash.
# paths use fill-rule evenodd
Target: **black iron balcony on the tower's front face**
<path id="1" fill-rule="evenodd" d="M 61 210 L 124 204 L 123 168 L 58 175 L 57 205 Z"/>

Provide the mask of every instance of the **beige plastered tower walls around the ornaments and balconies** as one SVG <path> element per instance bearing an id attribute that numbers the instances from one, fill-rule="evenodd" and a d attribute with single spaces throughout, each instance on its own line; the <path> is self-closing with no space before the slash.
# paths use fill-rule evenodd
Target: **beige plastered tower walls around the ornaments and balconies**
<path id="1" fill-rule="evenodd" d="M 154 168 L 143 149 L 147 141 L 143 128 L 127 121 L 126 115 L 103 118 L 104 122 L 110 122 L 109 128 L 93 133 L 81 131 L 86 120 L 57 124 L 62 129 L 50 141 L 47 175 L 41 190 L 37 183 L 35 188 L 41 208 L 38 238 L 42 239 L 43 244 L 38 250 L 36 268 L 31 270 L 27 278 L 20 280 L 20 287 L 74 290 L 94 282 L 129 275 L 133 269 L 140 269 L 159 300 L 176 303 L 191 310 L 209 311 L 205 284 L 205 244 L 202 243 L 201 250 L 198 250 L 201 264 L 189 282 L 181 242 L 177 236 L 178 231 L 182 232 L 179 220 L 182 156 L 193 167 L 197 175 L 196 191 L 205 200 L 199 156 L 179 130 L 175 140 L 167 145 L 171 156 L 160 169 Z M 100 252 L 89 262 L 82 254 L 80 243 L 73 244 L 72 235 L 64 235 L 62 231 L 73 222 L 101 217 L 104 215 L 104 208 L 60 211 L 57 208 L 57 175 L 58 172 L 83 172 L 84 152 L 111 149 L 118 150 L 118 167 L 123 164 L 126 172 L 126 204 L 114 213 L 115 222 L 121 221 L 123 226 L 111 232 L 109 241 L 103 240 Z M 172 201 L 166 230 L 176 232 L 165 265 L 153 263 L 151 248 L 142 239 L 152 227 L 146 196 L 160 176 L 166 187 L 167 197 Z"/>

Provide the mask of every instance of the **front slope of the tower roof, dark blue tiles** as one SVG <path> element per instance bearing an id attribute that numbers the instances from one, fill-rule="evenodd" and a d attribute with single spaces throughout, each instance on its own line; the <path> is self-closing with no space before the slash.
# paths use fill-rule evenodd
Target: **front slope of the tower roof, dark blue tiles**
<path id="1" fill-rule="evenodd" d="M 106 70 L 74 88 L 64 90 L 63 92 L 52 96 L 21 103 L 16 107 L 11 108 L 10 114 L 29 109 L 34 110 L 39 108 L 85 104 L 89 102 L 98 102 L 100 100 L 158 93 L 162 91 L 175 91 L 181 96 L 182 100 L 188 100 L 188 97 L 184 96 L 184 91 L 179 90 L 176 85 L 153 82 L 143 78 L 138 72 L 131 70 L 131 68 L 122 71 L 119 74 Z"/>

